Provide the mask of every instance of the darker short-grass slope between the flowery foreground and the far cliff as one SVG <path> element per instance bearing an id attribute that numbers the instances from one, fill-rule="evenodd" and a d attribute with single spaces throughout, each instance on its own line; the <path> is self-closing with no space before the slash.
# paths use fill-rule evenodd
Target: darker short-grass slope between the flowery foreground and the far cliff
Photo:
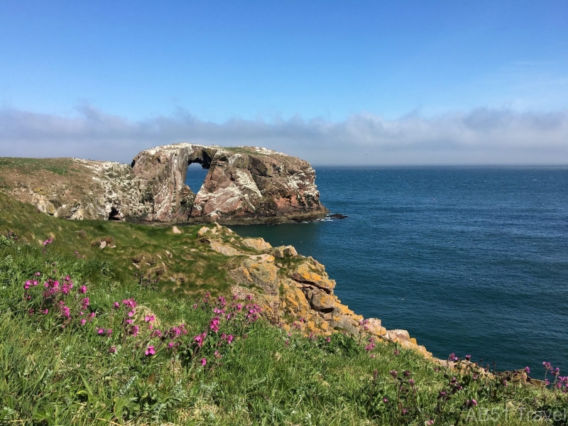
<path id="1" fill-rule="evenodd" d="M 53 250 L 113 263 L 121 278 L 143 278 L 153 288 L 158 288 L 159 282 L 160 289 L 191 295 L 204 293 L 204 286 L 215 295 L 229 289 L 231 281 L 222 268 L 227 258 L 199 242 L 200 226 L 184 227 L 183 234 L 175 235 L 168 226 L 65 222 L 4 194 L 0 194 L 0 204 L 0 230 L 11 229 L 30 244 L 40 245 L 53 237 Z M 100 249 L 101 241 L 107 242 L 104 249 Z"/>

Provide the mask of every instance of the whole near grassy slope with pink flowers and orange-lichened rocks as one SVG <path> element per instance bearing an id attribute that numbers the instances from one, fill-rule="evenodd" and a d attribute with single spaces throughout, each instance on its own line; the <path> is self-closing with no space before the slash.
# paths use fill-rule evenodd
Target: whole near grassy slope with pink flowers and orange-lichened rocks
<path id="1" fill-rule="evenodd" d="M 339 331 L 359 317 L 292 248 L 180 231 L 0 194 L 0 424 L 566 424 L 565 387 Z"/>

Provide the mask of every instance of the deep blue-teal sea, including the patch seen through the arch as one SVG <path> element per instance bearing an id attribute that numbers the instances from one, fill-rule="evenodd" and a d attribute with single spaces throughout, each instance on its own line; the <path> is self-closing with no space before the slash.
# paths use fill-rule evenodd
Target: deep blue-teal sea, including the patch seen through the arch
<path id="1" fill-rule="evenodd" d="M 207 170 L 190 168 L 197 190 Z M 324 264 L 335 293 L 439 357 L 568 370 L 568 168 L 318 167 L 346 219 L 231 226 Z"/>

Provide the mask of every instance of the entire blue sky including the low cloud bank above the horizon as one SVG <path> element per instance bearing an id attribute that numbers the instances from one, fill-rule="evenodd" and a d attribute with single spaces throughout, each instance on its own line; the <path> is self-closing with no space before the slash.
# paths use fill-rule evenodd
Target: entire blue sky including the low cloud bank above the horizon
<path id="1" fill-rule="evenodd" d="M 568 2 L 0 0 L 0 156 L 568 164 Z"/>

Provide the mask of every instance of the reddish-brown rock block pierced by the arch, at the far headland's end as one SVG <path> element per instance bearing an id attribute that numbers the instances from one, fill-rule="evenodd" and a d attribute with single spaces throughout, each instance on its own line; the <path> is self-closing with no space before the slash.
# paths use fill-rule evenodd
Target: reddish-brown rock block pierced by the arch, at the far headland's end
<path id="1" fill-rule="evenodd" d="M 190 163 L 209 169 L 195 196 L 185 185 Z M 132 170 L 151 181 L 153 220 L 158 222 L 275 223 L 327 212 L 310 164 L 266 148 L 159 146 L 136 155 Z"/>

